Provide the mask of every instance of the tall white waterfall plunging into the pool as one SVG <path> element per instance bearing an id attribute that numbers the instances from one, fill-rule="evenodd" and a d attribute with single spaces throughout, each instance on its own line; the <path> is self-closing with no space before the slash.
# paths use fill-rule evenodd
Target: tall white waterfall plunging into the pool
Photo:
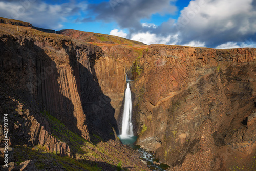
<path id="1" fill-rule="evenodd" d="M 127 77 L 126 77 L 127 78 Z M 125 90 L 124 110 L 122 120 L 122 136 L 133 136 L 132 124 L 132 93 L 130 82 L 127 80 L 127 88 Z"/>

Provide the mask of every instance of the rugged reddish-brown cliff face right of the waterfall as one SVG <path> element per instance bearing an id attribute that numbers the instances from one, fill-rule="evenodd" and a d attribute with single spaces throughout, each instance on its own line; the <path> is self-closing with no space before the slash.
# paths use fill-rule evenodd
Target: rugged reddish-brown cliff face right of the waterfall
<path id="1" fill-rule="evenodd" d="M 148 47 L 133 85 L 137 144 L 182 164 L 178 170 L 226 170 L 235 156 L 252 168 L 255 55 L 255 48 Z"/>

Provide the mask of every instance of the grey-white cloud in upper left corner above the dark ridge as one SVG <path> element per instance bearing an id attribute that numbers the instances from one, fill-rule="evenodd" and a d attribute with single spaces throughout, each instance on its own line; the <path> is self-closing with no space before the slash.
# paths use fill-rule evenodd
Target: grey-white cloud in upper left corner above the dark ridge
<path id="1" fill-rule="evenodd" d="M 30 22 L 36 27 L 61 29 L 66 17 L 77 15 L 86 8 L 83 2 L 52 5 L 35 0 L 0 1 L 0 16 Z"/>

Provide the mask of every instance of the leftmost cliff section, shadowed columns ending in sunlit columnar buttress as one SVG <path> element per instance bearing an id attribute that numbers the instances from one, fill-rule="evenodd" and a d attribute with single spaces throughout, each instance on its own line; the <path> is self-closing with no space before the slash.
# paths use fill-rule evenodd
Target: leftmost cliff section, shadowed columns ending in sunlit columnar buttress
<path id="1" fill-rule="evenodd" d="M 1 83 L 27 103 L 38 106 L 40 111 L 49 111 L 73 131 L 88 138 L 77 89 L 79 75 L 72 69 L 75 66 L 62 47 L 70 42 L 59 41 L 55 49 L 50 46 L 53 40 L 50 41 L 44 36 L 33 39 L 27 35 L 2 33 Z"/>

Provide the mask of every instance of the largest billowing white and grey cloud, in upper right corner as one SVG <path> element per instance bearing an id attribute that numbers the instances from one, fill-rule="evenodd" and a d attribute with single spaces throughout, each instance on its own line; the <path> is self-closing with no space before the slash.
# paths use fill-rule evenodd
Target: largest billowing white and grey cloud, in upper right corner
<path id="1" fill-rule="evenodd" d="M 255 0 L 190 1 L 176 24 L 181 43 L 200 41 L 215 47 L 248 39 L 256 41 L 255 4 Z"/>

